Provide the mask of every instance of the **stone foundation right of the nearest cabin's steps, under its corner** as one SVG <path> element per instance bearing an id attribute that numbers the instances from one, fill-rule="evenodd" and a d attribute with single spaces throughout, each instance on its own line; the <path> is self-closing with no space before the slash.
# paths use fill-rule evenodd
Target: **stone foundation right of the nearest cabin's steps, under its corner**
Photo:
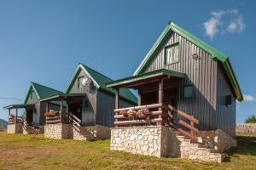
<path id="1" fill-rule="evenodd" d="M 224 152 L 236 146 L 236 139 L 220 129 L 216 131 L 200 131 L 198 135 L 201 137 L 199 139 L 200 142 L 207 145 L 208 148 L 218 150 L 219 152 Z"/>

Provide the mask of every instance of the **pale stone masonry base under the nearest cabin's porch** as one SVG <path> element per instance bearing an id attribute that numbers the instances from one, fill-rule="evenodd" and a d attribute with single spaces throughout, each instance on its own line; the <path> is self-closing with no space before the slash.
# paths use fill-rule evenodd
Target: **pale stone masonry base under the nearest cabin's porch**
<path id="1" fill-rule="evenodd" d="M 114 127 L 111 129 L 110 150 L 145 156 L 167 156 L 167 134 L 168 128 L 162 126 Z"/>

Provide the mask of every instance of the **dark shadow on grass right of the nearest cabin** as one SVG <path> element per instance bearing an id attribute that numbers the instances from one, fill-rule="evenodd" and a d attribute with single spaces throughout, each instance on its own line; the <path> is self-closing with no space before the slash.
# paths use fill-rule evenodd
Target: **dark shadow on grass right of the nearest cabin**
<path id="1" fill-rule="evenodd" d="M 256 156 L 256 136 L 236 136 L 237 147 L 230 148 L 226 153 L 227 156 L 224 161 L 230 161 L 230 157 Z"/>

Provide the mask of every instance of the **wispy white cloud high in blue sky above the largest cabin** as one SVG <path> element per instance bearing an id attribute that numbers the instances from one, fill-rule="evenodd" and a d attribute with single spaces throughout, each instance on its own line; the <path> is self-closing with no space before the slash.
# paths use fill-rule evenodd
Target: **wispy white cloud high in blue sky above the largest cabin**
<path id="1" fill-rule="evenodd" d="M 213 11 L 211 18 L 203 23 L 207 37 L 211 39 L 218 33 L 241 32 L 246 24 L 237 9 Z"/>

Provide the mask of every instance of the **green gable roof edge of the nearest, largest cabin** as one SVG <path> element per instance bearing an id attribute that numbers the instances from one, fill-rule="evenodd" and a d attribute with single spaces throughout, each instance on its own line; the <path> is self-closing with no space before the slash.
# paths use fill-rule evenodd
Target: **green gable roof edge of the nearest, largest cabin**
<path id="1" fill-rule="evenodd" d="M 224 68 L 224 72 L 227 75 L 229 82 L 231 84 L 231 87 L 233 88 L 236 99 L 239 101 L 243 100 L 242 94 L 241 94 L 241 88 L 239 86 L 239 83 L 237 82 L 235 72 L 231 66 L 229 57 L 218 51 L 218 49 L 213 48 L 211 45 L 207 44 L 206 42 L 203 42 L 198 37 L 195 37 L 189 31 L 183 30 L 183 28 L 175 25 L 173 22 L 169 22 L 166 26 L 165 30 L 162 31 L 160 34 L 160 37 L 154 42 L 154 45 L 152 48 L 150 48 L 148 54 L 143 59 L 142 63 L 138 66 L 137 70 L 134 72 L 133 76 L 137 76 L 138 74 L 143 73 L 143 71 L 146 70 L 148 65 L 151 63 L 151 61 L 154 59 L 154 55 L 158 52 L 158 50 L 162 47 L 164 42 L 166 42 L 166 38 L 169 37 L 169 35 L 172 33 L 172 31 L 176 32 L 180 36 L 184 37 L 185 39 L 189 40 L 189 42 L 194 43 L 197 47 L 202 48 L 207 53 L 212 55 L 212 59 L 217 59 L 220 65 Z"/>

